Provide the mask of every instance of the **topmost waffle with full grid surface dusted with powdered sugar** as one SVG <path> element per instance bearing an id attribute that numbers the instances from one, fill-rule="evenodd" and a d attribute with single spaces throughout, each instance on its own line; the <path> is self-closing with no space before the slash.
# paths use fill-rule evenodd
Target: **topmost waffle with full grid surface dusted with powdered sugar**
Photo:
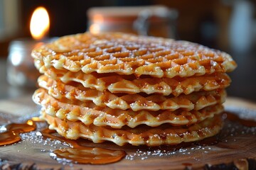
<path id="1" fill-rule="evenodd" d="M 136 77 L 190 77 L 231 72 L 230 55 L 192 42 L 124 33 L 68 35 L 32 52 L 46 67 L 85 74 L 117 73 Z"/>

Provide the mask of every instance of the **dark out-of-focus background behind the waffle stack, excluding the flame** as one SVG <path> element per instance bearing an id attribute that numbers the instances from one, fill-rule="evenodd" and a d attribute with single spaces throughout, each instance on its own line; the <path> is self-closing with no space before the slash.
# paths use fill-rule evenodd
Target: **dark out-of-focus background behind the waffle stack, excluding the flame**
<path id="1" fill-rule="evenodd" d="M 48 11 L 50 27 L 41 40 L 33 40 L 31 16 L 38 6 Z M 0 0 L 0 98 L 33 89 L 27 79 L 6 80 L 7 74 L 18 74 L 9 69 L 18 65 L 17 51 L 23 54 L 18 60 L 29 60 L 29 49 L 40 41 L 90 30 L 188 40 L 228 52 L 238 62 L 228 94 L 256 101 L 255 8 L 255 0 Z"/>

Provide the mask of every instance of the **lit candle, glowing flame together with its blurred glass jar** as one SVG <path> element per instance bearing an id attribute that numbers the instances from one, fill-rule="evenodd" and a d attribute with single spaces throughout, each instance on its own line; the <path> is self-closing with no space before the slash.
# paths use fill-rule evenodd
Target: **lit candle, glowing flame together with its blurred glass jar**
<path id="1" fill-rule="evenodd" d="M 32 38 L 21 38 L 11 42 L 7 61 L 7 80 L 13 86 L 35 86 L 39 72 L 33 65 L 31 50 L 51 39 L 46 38 L 50 19 L 46 8 L 38 7 L 31 16 Z"/>

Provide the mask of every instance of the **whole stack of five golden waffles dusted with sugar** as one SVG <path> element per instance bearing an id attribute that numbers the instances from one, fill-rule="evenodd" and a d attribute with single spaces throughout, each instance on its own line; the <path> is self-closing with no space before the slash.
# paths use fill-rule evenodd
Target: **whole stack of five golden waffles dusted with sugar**
<path id="1" fill-rule="evenodd" d="M 124 33 L 68 35 L 34 49 L 33 101 L 60 135 L 117 145 L 175 145 L 216 135 L 230 55 Z"/>

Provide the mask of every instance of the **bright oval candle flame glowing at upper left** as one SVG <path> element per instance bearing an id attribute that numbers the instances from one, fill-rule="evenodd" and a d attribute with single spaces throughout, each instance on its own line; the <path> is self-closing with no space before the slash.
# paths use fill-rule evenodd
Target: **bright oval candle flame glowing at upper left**
<path id="1" fill-rule="evenodd" d="M 30 30 L 35 40 L 41 40 L 46 36 L 50 28 L 50 18 L 46 8 L 38 7 L 31 17 Z"/>

